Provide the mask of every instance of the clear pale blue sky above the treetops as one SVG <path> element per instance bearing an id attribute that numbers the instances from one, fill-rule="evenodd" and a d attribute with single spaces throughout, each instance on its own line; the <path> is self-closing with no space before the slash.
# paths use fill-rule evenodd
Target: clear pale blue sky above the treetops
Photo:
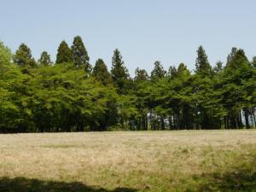
<path id="1" fill-rule="evenodd" d="M 118 48 L 131 76 L 154 61 L 192 70 L 200 45 L 212 66 L 232 47 L 256 55 L 254 0 L 1 0 L 0 8 L 0 41 L 13 53 L 25 43 L 36 59 L 47 50 L 55 60 L 61 41 L 77 35 L 91 64 L 102 58 L 110 69 Z"/>

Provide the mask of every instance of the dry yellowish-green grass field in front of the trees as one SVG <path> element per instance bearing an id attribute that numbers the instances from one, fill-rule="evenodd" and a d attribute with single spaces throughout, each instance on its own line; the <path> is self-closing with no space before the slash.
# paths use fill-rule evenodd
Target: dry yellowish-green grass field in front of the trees
<path id="1" fill-rule="evenodd" d="M 0 135 L 0 191 L 256 191 L 256 131 Z"/>

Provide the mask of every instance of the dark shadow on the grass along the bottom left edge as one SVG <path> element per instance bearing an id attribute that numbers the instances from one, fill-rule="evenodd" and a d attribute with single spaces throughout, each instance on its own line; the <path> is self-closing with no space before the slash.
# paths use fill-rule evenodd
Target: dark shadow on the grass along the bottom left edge
<path id="1" fill-rule="evenodd" d="M 25 177 L 0 177 L 0 192 L 136 192 L 137 189 L 117 188 L 113 190 L 97 189 L 84 183 L 41 181 Z"/>

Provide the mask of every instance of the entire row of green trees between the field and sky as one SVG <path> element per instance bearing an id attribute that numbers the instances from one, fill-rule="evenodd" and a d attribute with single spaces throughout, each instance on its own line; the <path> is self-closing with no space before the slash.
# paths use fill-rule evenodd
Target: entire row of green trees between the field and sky
<path id="1" fill-rule="evenodd" d="M 149 64 L 148 64 L 149 65 Z M 211 65 L 197 49 L 195 70 L 160 61 L 131 78 L 119 49 L 112 67 L 90 57 L 81 37 L 64 40 L 53 62 L 26 44 L 0 43 L 0 132 L 252 129 L 256 126 L 256 57 L 232 48 Z"/>

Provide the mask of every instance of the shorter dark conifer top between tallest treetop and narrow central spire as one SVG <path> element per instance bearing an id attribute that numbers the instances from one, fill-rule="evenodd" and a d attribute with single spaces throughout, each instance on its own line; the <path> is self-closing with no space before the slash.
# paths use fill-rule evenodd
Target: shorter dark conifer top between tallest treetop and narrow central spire
<path id="1" fill-rule="evenodd" d="M 102 59 L 98 59 L 96 61 L 95 67 L 93 67 L 92 75 L 104 85 L 112 83 L 111 74 L 108 72 L 108 67 Z"/>

